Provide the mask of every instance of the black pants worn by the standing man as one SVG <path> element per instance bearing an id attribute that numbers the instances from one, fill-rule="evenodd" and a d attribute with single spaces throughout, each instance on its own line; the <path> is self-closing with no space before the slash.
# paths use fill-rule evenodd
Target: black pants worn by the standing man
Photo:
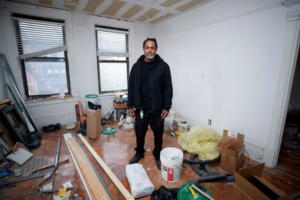
<path id="1" fill-rule="evenodd" d="M 152 116 L 150 108 L 143 108 L 144 116 L 143 119 L 140 117 L 140 109 L 135 111 L 135 135 L 137 136 L 137 147 L 134 150 L 137 153 L 145 153 L 144 144 L 145 136 L 148 130 L 148 124 L 150 123 L 150 128 L 154 135 L 154 150 L 152 151 L 153 156 L 156 159 L 160 159 L 160 154 L 163 145 L 163 133 L 164 133 L 164 119 L 161 119 L 161 115 Z"/>

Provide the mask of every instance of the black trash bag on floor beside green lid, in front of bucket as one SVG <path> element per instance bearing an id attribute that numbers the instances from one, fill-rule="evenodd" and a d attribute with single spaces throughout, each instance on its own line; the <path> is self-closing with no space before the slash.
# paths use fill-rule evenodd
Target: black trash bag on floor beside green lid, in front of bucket
<path id="1" fill-rule="evenodd" d="M 160 186 L 159 189 L 154 190 L 151 194 L 150 200 L 177 200 L 177 193 L 179 188 L 166 188 Z"/>

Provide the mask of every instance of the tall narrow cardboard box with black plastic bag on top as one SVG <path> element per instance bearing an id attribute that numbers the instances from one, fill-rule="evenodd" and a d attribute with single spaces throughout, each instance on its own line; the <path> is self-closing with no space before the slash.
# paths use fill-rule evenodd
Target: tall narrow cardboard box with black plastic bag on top
<path id="1" fill-rule="evenodd" d="M 86 136 L 88 138 L 98 138 L 101 135 L 101 109 L 86 112 Z"/>

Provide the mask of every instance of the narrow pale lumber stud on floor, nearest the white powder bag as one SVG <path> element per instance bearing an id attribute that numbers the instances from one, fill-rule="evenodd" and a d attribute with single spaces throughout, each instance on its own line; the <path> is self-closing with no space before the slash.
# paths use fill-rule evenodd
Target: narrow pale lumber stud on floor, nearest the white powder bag
<path id="1" fill-rule="evenodd" d="M 123 186 L 123 184 L 120 182 L 120 180 L 116 177 L 116 175 L 110 170 L 110 168 L 105 164 L 105 162 L 101 159 L 101 157 L 96 153 L 96 151 L 91 147 L 91 145 L 85 140 L 85 138 L 81 135 L 81 133 L 78 134 L 78 137 L 81 139 L 83 144 L 88 148 L 90 153 L 93 155 L 93 157 L 97 160 L 99 165 L 103 168 L 105 173 L 108 177 L 110 177 L 110 180 L 113 181 L 115 186 L 119 189 L 121 194 L 124 196 L 125 199 L 134 200 L 132 195 L 128 192 L 128 190 Z"/>

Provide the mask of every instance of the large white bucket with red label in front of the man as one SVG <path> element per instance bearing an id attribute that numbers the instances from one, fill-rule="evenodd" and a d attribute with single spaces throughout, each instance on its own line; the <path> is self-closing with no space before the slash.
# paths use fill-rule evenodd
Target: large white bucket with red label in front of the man
<path id="1" fill-rule="evenodd" d="M 177 160 L 171 160 L 169 157 L 178 155 Z M 176 182 L 181 176 L 181 165 L 183 153 L 180 149 L 167 147 L 161 150 L 161 177 L 170 183 Z"/>

